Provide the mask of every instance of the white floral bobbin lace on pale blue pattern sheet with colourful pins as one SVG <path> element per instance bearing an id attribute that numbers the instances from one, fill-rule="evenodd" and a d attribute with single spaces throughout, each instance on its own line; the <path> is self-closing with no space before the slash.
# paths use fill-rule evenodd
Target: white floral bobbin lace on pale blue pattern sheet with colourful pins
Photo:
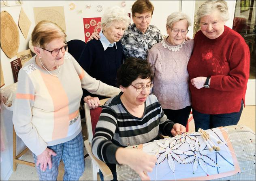
<path id="1" fill-rule="evenodd" d="M 218 134 L 215 130 L 218 130 Z M 181 174 L 183 169 L 194 177 L 232 171 L 234 164 L 226 141 L 221 139 L 222 131 L 225 130 L 216 128 L 208 132 L 201 130 L 201 132 L 180 133 L 175 137 L 143 144 L 143 151 L 154 153 L 157 158 L 156 167 L 152 173 L 148 173 L 150 178 L 180 179 L 183 178 Z"/>

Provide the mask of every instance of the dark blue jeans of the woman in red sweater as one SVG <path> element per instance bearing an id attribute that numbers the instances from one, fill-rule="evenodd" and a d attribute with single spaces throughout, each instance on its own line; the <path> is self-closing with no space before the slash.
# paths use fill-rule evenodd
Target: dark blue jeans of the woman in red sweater
<path id="1" fill-rule="evenodd" d="M 237 125 L 243 111 L 243 101 L 239 112 L 232 112 L 228 114 L 203 114 L 193 109 L 193 118 L 195 122 L 195 129 L 211 129 L 220 126 Z"/>

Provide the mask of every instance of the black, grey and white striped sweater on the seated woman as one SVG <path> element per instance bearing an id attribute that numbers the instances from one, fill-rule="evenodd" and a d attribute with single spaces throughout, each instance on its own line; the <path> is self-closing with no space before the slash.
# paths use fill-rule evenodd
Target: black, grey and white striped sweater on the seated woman
<path id="1" fill-rule="evenodd" d="M 119 147 L 143 144 L 158 138 L 158 133 L 171 136 L 173 123 L 167 119 L 154 94 L 145 101 L 143 117 L 130 114 L 120 100 L 122 92 L 109 99 L 100 114 L 92 139 L 92 152 L 100 160 L 117 164 Z"/>

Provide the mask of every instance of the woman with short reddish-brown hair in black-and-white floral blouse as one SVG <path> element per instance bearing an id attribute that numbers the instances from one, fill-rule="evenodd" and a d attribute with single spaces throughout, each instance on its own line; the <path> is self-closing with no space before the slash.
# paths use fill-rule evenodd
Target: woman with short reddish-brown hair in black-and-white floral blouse
<path id="1" fill-rule="evenodd" d="M 128 26 L 121 38 L 124 55 L 147 59 L 148 50 L 162 41 L 160 30 L 150 25 L 154 6 L 149 0 L 137 0 L 132 5 L 133 24 Z M 100 36 L 93 33 L 90 39 L 98 40 Z"/>

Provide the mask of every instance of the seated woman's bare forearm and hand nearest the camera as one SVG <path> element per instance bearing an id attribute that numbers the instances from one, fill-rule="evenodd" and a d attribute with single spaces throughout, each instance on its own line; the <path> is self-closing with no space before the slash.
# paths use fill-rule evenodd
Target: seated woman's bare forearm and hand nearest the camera
<path id="1" fill-rule="evenodd" d="M 147 172 L 152 172 L 157 158 L 138 149 L 118 148 L 115 158 L 119 164 L 127 164 L 136 171 L 141 180 L 150 180 Z"/>

